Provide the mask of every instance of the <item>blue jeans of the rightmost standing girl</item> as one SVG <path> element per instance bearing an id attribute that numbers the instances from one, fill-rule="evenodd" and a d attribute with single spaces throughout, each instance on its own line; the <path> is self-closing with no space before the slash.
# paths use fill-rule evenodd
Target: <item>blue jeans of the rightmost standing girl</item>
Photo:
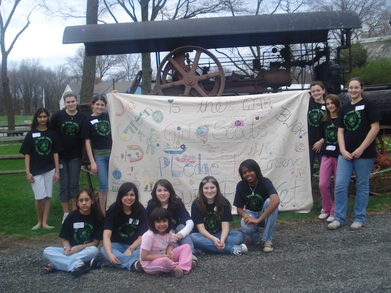
<path id="1" fill-rule="evenodd" d="M 356 173 L 356 202 L 354 205 L 354 222 L 364 224 L 369 199 L 369 176 L 375 159 L 346 160 L 338 157 L 337 176 L 335 183 L 335 220 L 341 224 L 346 222 L 348 209 L 348 187 L 353 170 Z"/>

